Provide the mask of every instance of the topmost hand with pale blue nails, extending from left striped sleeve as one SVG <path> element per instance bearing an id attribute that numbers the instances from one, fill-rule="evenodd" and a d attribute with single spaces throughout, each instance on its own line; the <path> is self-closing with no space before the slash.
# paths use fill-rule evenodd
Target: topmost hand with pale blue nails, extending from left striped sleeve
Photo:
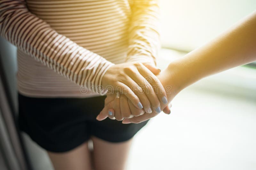
<path id="1" fill-rule="evenodd" d="M 102 86 L 111 91 L 109 93 L 120 91 L 136 108 L 143 108 L 146 113 L 151 113 L 152 109 L 160 113 L 160 101 L 167 103 L 164 87 L 155 75 L 160 71 L 146 63 L 116 64 L 103 75 Z"/>

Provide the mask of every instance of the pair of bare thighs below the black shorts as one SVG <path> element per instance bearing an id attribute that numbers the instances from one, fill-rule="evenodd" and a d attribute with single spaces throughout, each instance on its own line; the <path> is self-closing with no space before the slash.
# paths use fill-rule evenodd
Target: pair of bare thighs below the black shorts
<path id="1" fill-rule="evenodd" d="M 132 144 L 132 139 L 111 143 L 92 137 L 93 152 L 90 153 L 88 143 L 75 149 L 55 153 L 47 152 L 55 170 L 123 170 Z"/>

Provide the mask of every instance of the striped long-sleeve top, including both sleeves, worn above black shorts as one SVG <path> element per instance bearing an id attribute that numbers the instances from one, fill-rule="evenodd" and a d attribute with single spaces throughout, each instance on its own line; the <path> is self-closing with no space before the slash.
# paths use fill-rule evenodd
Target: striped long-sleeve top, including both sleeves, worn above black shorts
<path id="1" fill-rule="evenodd" d="M 158 12 L 157 0 L 0 0 L 0 35 L 18 48 L 19 92 L 98 95 L 93 87 L 112 65 L 155 62 Z"/>

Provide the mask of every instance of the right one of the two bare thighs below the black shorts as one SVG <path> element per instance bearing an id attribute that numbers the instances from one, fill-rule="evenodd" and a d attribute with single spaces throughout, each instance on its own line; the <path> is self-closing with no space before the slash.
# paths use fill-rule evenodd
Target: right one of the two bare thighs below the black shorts
<path id="1" fill-rule="evenodd" d="M 92 137 L 95 170 L 124 170 L 132 139 L 112 143 Z"/>

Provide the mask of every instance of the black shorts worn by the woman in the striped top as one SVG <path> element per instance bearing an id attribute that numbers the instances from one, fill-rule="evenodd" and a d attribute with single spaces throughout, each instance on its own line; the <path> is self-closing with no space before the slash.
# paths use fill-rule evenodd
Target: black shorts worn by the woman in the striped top
<path id="1" fill-rule="evenodd" d="M 91 136 L 109 142 L 132 138 L 148 121 L 122 124 L 98 121 L 106 96 L 91 98 L 32 98 L 19 94 L 19 125 L 32 140 L 51 152 L 69 151 Z"/>

